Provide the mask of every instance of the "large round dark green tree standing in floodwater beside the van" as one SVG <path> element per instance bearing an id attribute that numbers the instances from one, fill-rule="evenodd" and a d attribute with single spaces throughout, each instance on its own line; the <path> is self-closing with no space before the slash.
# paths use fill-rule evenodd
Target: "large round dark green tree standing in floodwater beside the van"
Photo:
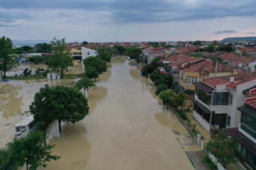
<path id="1" fill-rule="evenodd" d="M 41 102 L 42 98 L 45 100 Z M 61 132 L 61 122 L 76 123 L 88 115 L 88 100 L 74 87 L 57 85 L 49 87 L 46 85 L 36 93 L 34 102 L 30 105 L 30 112 L 35 119 L 39 119 L 44 124 L 44 129 L 54 120 L 58 120 L 59 131 Z"/>

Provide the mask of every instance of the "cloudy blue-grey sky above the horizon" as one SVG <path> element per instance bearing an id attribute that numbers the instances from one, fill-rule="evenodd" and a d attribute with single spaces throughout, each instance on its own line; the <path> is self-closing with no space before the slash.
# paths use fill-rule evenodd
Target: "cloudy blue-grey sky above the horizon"
<path id="1" fill-rule="evenodd" d="M 146 42 L 256 36 L 255 0 L 0 0 L 12 40 Z"/>

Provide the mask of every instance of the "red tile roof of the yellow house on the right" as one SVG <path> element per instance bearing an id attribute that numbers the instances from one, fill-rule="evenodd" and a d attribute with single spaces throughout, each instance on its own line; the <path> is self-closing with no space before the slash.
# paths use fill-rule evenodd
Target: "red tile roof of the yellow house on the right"
<path id="1" fill-rule="evenodd" d="M 209 75 L 209 72 L 215 72 L 215 62 L 206 59 L 198 64 L 192 64 L 189 67 L 180 68 L 182 72 L 198 72 L 199 75 Z M 233 71 L 236 67 L 218 63 L 217 72 Z"/>

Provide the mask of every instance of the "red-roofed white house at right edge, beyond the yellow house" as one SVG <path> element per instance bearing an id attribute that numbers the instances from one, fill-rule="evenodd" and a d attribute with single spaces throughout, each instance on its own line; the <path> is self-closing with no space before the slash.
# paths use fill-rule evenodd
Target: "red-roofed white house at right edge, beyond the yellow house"
<path id="1" fill-rule="evenodd" d="M 256 58 L 245 57 L 244 59 L 233 60 L 229 65 L 244 69 L 247 73 L 250 73 L 252 71 L 256 71 Z"/>

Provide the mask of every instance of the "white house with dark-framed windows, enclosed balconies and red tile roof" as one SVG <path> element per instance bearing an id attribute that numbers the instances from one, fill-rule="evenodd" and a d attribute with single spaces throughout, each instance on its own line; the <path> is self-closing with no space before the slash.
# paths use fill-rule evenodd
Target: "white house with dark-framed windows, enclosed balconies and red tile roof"
<path id="1" fill-rule="evenodd" d="M 238 127 L 246 95 L 256 85 L 256 73 L 207 77 L 192 83 L 195 88 L 193 116 L 206 130 Z"/>

